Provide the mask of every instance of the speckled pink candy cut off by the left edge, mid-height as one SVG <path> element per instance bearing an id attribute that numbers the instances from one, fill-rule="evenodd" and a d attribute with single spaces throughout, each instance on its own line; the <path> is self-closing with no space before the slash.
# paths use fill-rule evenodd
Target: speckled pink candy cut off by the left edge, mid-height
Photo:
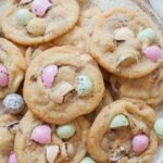
<path id="1" fill-rule="evenodd" d="M 0 64 L 0 87 L 7 87 L 9 84 L 8 70 Z"/>

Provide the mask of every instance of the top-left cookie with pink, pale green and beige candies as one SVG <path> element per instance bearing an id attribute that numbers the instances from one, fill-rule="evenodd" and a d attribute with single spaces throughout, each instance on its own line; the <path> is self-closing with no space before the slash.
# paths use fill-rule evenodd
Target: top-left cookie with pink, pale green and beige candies
<path id="1" fill-rule="evenodd" d="M 48 42 L 67 33 L 77 22 L 79 7 L 75 0 L 15 1 L 2 18 L 7 38 L 20 45 Z"/>

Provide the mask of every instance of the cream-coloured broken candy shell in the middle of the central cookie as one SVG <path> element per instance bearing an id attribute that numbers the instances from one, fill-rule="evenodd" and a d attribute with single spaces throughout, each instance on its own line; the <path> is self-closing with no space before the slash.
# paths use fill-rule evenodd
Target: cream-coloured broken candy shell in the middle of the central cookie
<path id="1" fill-rule="evenodd" d="M 63 82 L 60 85 L 58 85 L 52 92 L 50 92 L 50 98 L 52 101 L 57 103 L 62 103 L 64 96 L 67 95 L 70 91 L 74 89 L 74 86 L 71 84 Z"/>

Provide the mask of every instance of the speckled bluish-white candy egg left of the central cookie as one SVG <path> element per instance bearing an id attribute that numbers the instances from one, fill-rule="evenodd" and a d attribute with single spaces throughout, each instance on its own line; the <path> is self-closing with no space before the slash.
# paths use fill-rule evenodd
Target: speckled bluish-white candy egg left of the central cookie
<path id="1" fill-rule="evenodd" d="M 23 109 L 24 109 L 24 100 L 17 93 L 10 93 L 10 95 L 8 95 L 3 99 L 2 104 L 4 106 L 4 111 L 7 113 L 11 113 L 11 114 L 21 113 L 23 111 Z"/>

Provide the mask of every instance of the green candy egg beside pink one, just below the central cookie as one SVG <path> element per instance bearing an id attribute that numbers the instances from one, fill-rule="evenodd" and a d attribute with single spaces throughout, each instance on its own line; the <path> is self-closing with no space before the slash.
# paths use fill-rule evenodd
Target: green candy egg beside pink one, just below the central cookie
<path id="1" fill-rule="evenodd" d="M 75 135 L 76 128 L 73 124 L 66 124 L 57 128 L 57 135 L 61 139 L 70 139 Z"/>

